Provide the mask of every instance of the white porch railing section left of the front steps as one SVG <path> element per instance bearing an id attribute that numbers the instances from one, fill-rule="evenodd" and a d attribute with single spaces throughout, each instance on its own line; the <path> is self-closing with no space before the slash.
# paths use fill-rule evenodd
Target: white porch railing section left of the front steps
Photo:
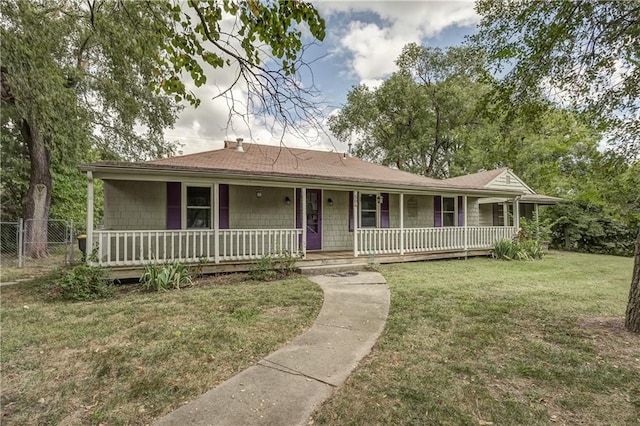
<path id="1" fill-rule="evenodd" d="M 301 252 L 301 229 L 221 229 L 180 231 L 94 231 L 101 266 L 150 262 L 255 260 Z"/>

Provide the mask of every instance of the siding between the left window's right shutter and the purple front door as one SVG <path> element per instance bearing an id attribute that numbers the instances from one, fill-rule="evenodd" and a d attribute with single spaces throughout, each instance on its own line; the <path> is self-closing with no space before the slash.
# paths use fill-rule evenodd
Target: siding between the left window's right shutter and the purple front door
<path id="1" fill-rule="evenodd" d="M 262 198 L 256 190 L 262 189 Z M 286 204 L 289 197 L 291 204 Z M 295 228 L 294 190 L 253 186 L 229 187 L 229 227 L 231 229 Z"/>

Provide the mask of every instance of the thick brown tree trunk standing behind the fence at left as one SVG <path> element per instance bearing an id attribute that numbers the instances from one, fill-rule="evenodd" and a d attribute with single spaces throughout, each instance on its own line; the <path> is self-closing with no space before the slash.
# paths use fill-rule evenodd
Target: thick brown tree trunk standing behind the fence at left
<path id="1" fill-rule="evenodd" d="M 51 207 L 51 156 L 45 137 L 37 125 L 22 121 L 21 133 L 29 149 L 31 176 L 29 190 L 22 200 L 25 219 L 25 255 L 34 259 L 46 257 L 47 228 Z"/>

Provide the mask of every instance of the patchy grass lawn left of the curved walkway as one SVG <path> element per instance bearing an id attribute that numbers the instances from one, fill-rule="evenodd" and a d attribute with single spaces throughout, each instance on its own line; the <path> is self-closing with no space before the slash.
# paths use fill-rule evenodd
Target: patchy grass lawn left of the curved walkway
<path id="1" fill-rule="evenodd" d="M 2 288 L 2 424 L 149 424 L 255 364 L 317 317 L 304 278 L 60 303 Z"/>

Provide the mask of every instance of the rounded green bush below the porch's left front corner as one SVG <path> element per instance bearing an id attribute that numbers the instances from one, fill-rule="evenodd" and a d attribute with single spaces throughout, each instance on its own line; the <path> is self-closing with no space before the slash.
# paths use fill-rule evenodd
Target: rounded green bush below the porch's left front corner
<path id="1" fill-rule="evenodd" d="M 103 268 L 80 264 L 53 281 L 51 294 L 61 300 L 107 299 L 116 293 Z"/>

